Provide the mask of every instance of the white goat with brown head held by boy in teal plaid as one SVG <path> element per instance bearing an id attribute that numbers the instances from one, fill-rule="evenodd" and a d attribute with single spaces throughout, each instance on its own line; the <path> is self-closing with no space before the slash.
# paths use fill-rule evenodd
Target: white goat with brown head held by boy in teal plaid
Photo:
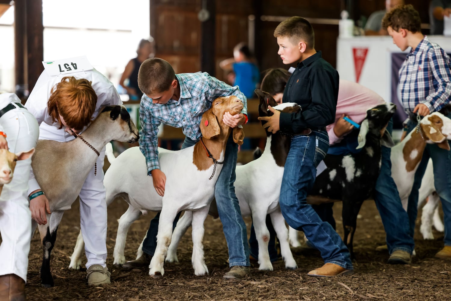
<path id="1" fill-rule="evenodd" d="M 129 203 L 129 208 L 119 219 L 113 253 L 115 265 L 125 262 L 125 239 L 130 224 L 137 220 L 141 213 L 161 211 L 156 250 L 149 266 L 149 275 L 160 278 L 164 274 L 163 263 L 171 242 L 172 223 L 178 212 L 187 210 L 192 211 L 193 216 L 194 273 L 196 275 L 208 273 L 203 256 L 203 222 L 207 217 L 209 205 L 214 197 L 216 180 L 222 169 L 219 162 L 224 160 L 227 139 L 232 132 L 232 129 L 222 122 L 222 116 L 227 111 L 232 115 L 238 114 L 242 109 L 243 103 L 237 97 L 218 97 L 213 101 L 212 107 L 202 115 L 201 141 L 178 151 L 158 148 L 158 161 L 161 171 L 166 175 L 163 197 L 156 193 L 152 177 L 147 176 L 146 159 L 138 147 L 129 148 L 111 160 L 111 166 L 106 171 L 104 180 L 106 202 L 110 204 L 116 197 L 122 197 Z M 235 143 L 243 144 L 243 138 L 241 128 L 233 129 Z M 211 153 L 211 157 L 207 150 Z M 83 243 L 80 238 L 81 236 L 78 236 L 71 257 L 71 265 L 75 268 L 81 262 L 79 250 Z"/>

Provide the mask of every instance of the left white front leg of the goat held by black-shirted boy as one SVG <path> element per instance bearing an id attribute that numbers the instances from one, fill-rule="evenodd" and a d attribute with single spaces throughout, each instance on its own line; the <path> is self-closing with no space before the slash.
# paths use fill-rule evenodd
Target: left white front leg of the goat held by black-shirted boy
<path id="1" fill-rule="evenodd" d="M 258 212 L 257 208 L 251 208 L 252 222 L 255 229 L 255 237 L 258 241 L 258 269 L 272 271 L 272 263 L 268 253 L 269 231 L 266 227 L 266 209 Z"/>

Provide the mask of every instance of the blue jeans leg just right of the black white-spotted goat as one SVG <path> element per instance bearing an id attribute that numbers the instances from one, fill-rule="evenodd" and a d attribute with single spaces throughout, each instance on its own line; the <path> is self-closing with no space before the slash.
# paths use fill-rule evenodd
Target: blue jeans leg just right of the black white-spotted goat
<path id="1" fill-rule="evenodd" d="M 388 123 L 387 130 L 391 134 L 392 120 Z M 398 189 L 391 177 L 391 148 L 382 146 L 381 154 L 381 171 L 376 181 L 374 201 L 384 225 L 388 252 L 391 254 L 395 250 L 403 250 L 412 254 L 414 236 L 413 232 L 409 232 L 409 217 L 402 208 Z"/>

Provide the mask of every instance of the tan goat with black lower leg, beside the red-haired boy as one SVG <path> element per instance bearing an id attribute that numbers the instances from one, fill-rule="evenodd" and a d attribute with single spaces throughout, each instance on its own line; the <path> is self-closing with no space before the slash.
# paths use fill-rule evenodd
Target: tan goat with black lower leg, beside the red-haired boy
<path id="1" fill-rule="evenodd" d="M 81 136 L 96 152 L 83 142 Z M 41 283 L 44 287 L 54 285 L 50 255 L 58 225 L 64 210 L 70 209 L 77 199 L 88 173 L 95 165 L 97 150 L 101 151 L 111 140 L 134 143 L 139 139 L 129 113 L 121 106 L 103 109 L 81 136 L 69 142 L 38 140 L 32 157 L 34 175 L 49 200 L 51 210 L 51 214 L 46 213 L 48 222 L 38 226 L 43 250 Z M 32 233 L 36 226 L 37 223 L 33 221 Z"/>

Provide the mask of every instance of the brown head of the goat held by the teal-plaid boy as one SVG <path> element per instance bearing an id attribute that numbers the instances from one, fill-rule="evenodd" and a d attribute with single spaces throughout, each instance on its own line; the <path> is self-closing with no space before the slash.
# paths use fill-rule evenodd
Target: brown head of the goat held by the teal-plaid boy
<path id="1" fill-rule="evenodd" d="M 230 115 L 236 115 L 243 110 L 243 102 L 236 96 L 218 97 L 212 102 L 212 107 L 205 111 L 200 121 L 200 130 L 202 136 L 207 139 L 219 137 L 222 134 L 227 135 L 228 132 L 224 131 L 228 126 L 224 124 L 222 118 L 226 112 L 230 112 Z M 223 129 L 223 131 L 221 131 Z M 243 144 L 244 131 L 240 127 L 233 129 L 233 141 L 241 145 Z"/>

